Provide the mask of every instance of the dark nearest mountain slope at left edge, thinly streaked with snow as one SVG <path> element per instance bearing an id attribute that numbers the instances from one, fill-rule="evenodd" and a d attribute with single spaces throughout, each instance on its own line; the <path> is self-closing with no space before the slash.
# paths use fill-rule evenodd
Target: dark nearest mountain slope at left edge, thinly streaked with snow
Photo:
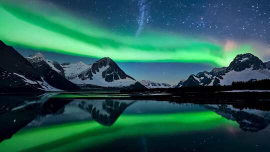
<path id="1" fill-rule="evenodd" d="M 38 70 L 13 47 L 0 41 L 0 91 L 59 91 L 44 80 Z"/>

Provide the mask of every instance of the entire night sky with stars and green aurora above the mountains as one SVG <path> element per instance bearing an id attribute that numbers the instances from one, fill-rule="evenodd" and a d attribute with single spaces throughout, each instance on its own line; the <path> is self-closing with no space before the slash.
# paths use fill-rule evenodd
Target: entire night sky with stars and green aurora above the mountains
<path id="1" fill-rule="evenodd" d="M 175 84 L 238 53 L 270 60 L 269 0 L 0 0 L 0 17 L 0 39 L 25 56 L 108 56 L 138 80 Z"/>

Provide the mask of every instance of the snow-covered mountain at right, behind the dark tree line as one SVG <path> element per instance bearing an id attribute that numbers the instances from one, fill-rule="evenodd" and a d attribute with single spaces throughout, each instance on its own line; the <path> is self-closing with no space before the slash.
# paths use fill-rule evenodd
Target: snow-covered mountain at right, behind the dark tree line
<path id="1" fill-rule="evenodd" d="M 268 62 L 263 63 L 251 53 L 239 54 L 228 67 L 213 68 L 210 72 L 192 74 L 182 86 L 231 85 L 233 81 L 269 79 L 268 66 Z"/>

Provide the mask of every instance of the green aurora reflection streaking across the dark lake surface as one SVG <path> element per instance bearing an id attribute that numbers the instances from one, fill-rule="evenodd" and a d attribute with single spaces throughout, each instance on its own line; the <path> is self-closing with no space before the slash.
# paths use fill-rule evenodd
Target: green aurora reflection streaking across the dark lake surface
<path id="1" fill-rule="evenodd" d="M 162 124 L 162 125 L 160 125 Z M 0 151 L 79 151 L 126 137 L 170 135 L 221 127 L 237 127 L 212 111 L 123 114 L 110 127 L 95 121 L 24 129 L 0 143 Z"/>

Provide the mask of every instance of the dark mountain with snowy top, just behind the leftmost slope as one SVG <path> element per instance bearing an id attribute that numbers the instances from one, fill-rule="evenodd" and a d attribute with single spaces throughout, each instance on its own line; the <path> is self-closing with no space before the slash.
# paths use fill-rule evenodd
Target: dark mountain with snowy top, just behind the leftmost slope
<path id="1" fill-rule="evenodd" d="M 46 60 L 41 53 L 36 53 L 27 57 L 27 60 L 32 63 L 41 76 L 41 79 L 53 88 L 60 90 L 78 90 L 79 87 L 67 80 L 60 73 L 61 68 L 56 61 Z"/>

